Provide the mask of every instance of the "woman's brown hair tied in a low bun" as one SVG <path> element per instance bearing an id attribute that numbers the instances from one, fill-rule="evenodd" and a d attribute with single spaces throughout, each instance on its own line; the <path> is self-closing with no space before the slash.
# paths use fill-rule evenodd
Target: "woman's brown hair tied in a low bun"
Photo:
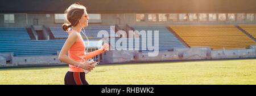
<path id="1" fill-rule="evenodd" d="M 62 25 L 63 30 L 68 31 L 79 23 L 79 19 L 86 11 L 86 8 L 79 3 L 74 3 L 65 11 L 65 23 Z"/>

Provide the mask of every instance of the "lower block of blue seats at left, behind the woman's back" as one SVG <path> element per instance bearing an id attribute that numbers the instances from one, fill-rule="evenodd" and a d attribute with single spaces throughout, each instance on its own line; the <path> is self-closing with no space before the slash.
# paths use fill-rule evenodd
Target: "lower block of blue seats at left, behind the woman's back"
<path id="1" fill-rule="evenodd" d="M 14 56 L 56 55 L 65 40 L 20 40 L 0 41 L 0 53 L 13 53 Z"/>

